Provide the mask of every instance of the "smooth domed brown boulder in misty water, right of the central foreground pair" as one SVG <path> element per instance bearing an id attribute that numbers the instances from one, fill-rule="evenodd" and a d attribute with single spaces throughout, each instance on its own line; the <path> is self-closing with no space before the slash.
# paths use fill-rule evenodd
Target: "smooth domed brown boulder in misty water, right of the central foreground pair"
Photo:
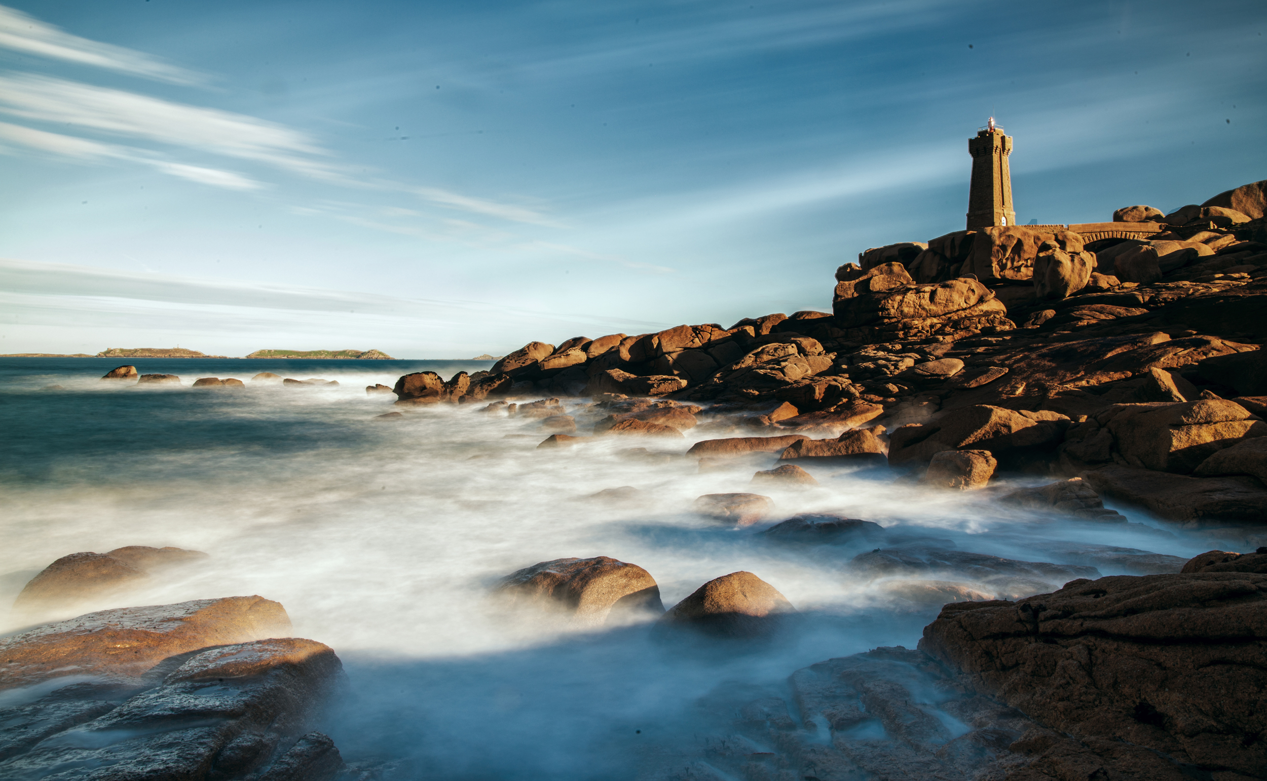
<path id="1" fill-rule="evenodd" d="M 751 572 L 731 572 L 696 589 L 660 619 L 664 629 L 692 629 L 726 639 L 775 634 L 796 608 L 774 586 Z"/>

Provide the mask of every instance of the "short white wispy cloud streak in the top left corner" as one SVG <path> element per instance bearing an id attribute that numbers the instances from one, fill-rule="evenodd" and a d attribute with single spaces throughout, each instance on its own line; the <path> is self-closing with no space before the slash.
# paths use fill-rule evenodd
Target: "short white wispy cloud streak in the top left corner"
<path id="1" fill-rule="evenodd" d="M 0 48 L 170 84 L 195 85 L 207 81 L 201 73 L 171 65 L 158 57 L 80 38 L 3 5 L 0 5 Z"/>

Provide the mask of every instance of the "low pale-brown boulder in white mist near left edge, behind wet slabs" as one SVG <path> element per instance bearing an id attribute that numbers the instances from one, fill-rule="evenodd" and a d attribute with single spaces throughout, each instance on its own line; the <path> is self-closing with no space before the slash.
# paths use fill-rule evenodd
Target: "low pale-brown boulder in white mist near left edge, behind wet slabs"
<path id="1" fill-rule="evenodd" d="M 109 553 L 71 553 L 30 578 L 18 594 L 14 610 L 32 615 L 100 604 L 147 585 L 151 576 L 207 558 L 200 551 L 146 546 L 115 548 Z"/>

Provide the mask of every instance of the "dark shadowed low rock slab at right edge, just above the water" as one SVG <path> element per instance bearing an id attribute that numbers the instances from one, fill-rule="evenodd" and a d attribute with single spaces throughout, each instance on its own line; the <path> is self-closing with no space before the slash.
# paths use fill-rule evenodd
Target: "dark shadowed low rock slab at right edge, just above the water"
<path id="1" fill-rule="evenodd" d="M 1083 472 L 1082 478 L 1101 496 L 1167 520 L 1258 524 L 1267 515 L 1267 489 L 1254 477 L 1190 477 L 1110 465 Z"/>

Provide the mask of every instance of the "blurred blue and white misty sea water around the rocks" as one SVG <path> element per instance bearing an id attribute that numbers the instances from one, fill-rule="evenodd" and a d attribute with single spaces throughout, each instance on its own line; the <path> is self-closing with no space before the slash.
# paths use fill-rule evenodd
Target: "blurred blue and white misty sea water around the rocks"
<path id="1" fill-rule="evenodd" d="M 547 435 L 537 420 L 483 405 L 381 420 L 394 397 L 364 390 L 409 371 L 449 377 L 490 362 L 136 359 L 142 373 L 180 375 L 184 385 L 99 381 L 119 363 L 0 358 L 0 632 L 27 623 L 6 613 L 13 597 L 67 553 L 204 551 L 205 565 L 163 575 L 124 604 L 250 594 L 283 603 L 296 635 L 343 659 L 350 695 L 324 728 L 345 758 L 404 759 L 417 777 L 639 777 L 718 728 L 725 713 L 701 705 L 718 692 L 778 690 L 825 658 L 914 647 L 939 604 L 851 575 L 848 561 L 868 544 L 773 546 L 756 534 L 796 513 L 1025 561 L 1060 562 L 1052 546 L 1068 542 L 1182 557 L 1213 547 L 1130 510 L 1130 524 L 1054 519 L 895 485 L 886 471 L 811 466 L 817 487 L 751 489 L 753 471 L 768 466 L 701 473 L 680 458 L 707 438 L 698 432 L 537 449 Z M 189 387 L 264 371 L 340 385 Z M 583 401 L 566 404 L 587 414 Z M 587 499 L 620 486 L 641 499 Z M 702 494 L 749 490 L 774 499 L 770 523 L 735 529 L 689 511 Z M 578 627 L 489 595 L 500 576 L 573 556 L 642 566 L 666 606 L 748 570 L 801 619 L 767 647 L 694 647 L 655 639 L 645 622 Z M 110 606 L 124 605 L 94 605 Z"/>

